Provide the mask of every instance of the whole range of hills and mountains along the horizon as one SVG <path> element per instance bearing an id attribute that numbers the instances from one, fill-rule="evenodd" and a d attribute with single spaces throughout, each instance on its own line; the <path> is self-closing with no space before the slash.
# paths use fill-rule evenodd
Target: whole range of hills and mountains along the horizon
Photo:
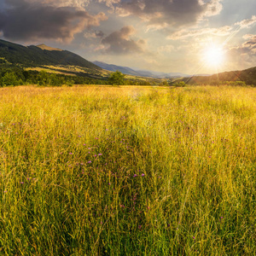
<path id="1" fill-rule="evenodd" d="M 121 73 L 133 76 L 133 79 L 154 78 L 159 79 L 159 83 L 160 79 L 166 79 L 170 82 L 184 81 L 188 84 L 218 84 L 225 81 L 244 81 L 246 84 L 256 85 L 256 67 L 213 75 L 190 76 L 184 73 L 160 73 L 107 64 L 102 61 L 90 62 L 73 52 L 52 48 L 45 44 L 23 46 L 0 39 L 0 67 L 5 64 L 29 68 L 44 67 L 54 73 L 58 71 L 96 79 L 106 79 L 110 72 L 119 70 Z"/>

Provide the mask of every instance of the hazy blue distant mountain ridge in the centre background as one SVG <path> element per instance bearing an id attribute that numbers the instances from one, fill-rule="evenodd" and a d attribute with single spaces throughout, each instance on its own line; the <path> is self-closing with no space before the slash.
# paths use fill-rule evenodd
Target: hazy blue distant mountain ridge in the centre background
<path id="1" fill-rule="evenodd" d="M 188 74 L 184 73 L 162 73 L 162 72 L 154 72 L 148 70 L 137 70 L 132 69 L 131 67 L 123 67 L 117 66 L 113 64 L 107 64 L 102 61 L 93 61 L 99 67 L 106 69 L 108 71 L 117 71 L 119 70 L 121 73 L 133 75 L 133 76 L 140 76 L 140 77 L 147 77 L 147 78 L 158 78 L 158 79 L 168 79 L 168 78 L 180 78 L 180 77 L 188 77 Z"/>

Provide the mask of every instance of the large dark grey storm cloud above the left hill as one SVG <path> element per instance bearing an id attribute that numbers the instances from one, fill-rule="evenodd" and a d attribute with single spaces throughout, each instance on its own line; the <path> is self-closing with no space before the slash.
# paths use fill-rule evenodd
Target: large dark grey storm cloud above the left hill
<path id="1" fill-rule="evenodd" d="M 103 13 L 90 15 L 75 7 L 56 7 L 26 0 L 5 1 L 0 11 L 0 32 L 14 40 L 38 38 L 71 41 L 85 27 L 99 26 L 107 17 Z"/>

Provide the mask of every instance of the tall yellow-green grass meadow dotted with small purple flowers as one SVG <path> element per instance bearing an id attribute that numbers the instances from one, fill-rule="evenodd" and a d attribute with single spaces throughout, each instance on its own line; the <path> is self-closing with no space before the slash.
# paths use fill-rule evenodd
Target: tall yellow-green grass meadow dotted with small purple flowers
<path id="1" fill-rule="evenodd" d="M 256 90 L 0 89 L 0 255 L 255 255 Z"/>

